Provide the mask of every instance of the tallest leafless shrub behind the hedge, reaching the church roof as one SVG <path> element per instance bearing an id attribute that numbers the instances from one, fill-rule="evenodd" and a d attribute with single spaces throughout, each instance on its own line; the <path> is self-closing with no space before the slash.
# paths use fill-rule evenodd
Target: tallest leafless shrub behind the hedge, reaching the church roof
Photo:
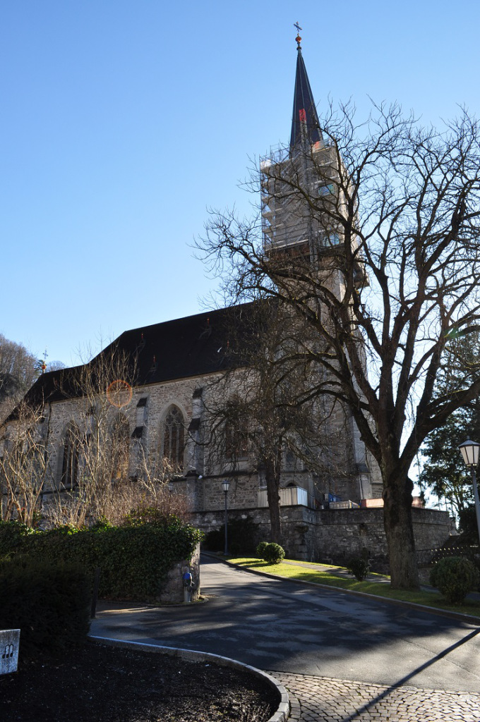
<path id="1" fill-rule="evenodd" d="M 64 435 L 59 493 L 46 505 L 51 523 L 83 526 L 111 516 L 129 477 L 129 422 L 134 365 L 114 345 L 89 363 L 56 376 L 70 406 Z"/>

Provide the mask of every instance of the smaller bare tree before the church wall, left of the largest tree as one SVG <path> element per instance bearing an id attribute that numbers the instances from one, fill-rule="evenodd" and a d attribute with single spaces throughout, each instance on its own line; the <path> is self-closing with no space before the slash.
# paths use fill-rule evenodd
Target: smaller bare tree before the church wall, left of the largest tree
<path id="1" fill-rule="evenodd" d="M 210 461 L 233 476 L 258 474 L 267 491 L 271 537 L 278 544 L 286 458 L 297 466 L 303 462 L 319 477 L 318 492 L 320 487 L 330 490 L 332 477 L 346 468 L 346 435 L 338 440 L 328 425 L 340 404 L 334 399 L 328 410 L 325 404 L 320 409 L 310 394 L 314 370 L 304 356 L 308 333 L 290 309 L 273 299 L 257 300 L 241 313 L 235 309 L 224 330 L 226 370 L 205 394 Z"/>

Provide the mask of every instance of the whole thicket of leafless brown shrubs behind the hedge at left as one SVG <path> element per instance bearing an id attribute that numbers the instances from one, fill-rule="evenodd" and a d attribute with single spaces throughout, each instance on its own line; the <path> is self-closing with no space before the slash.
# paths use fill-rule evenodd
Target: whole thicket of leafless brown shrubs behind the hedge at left
<path id="1" fill-rule="evenodd" d="M 53 375 L 48 393 L 63 399 L 71 418 L 56 469 L 48 459 L 51 406 L 39 380 L 1 427 L 2 518 L 31 526 L 42 516 L 48 526 L 80 528 L 102 519 L 121 523 L 132 514 L 186 517 L 187 500 L 168 490 L 175 470 L 132 442 L 136 374 L 134 356 L 113 343 L 90 362 Z"/>

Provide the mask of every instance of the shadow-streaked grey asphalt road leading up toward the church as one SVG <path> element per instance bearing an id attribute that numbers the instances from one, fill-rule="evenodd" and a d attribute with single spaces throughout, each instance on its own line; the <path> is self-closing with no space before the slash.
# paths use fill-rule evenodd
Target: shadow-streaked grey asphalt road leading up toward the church
<path id="1" fill-rule="evenodd" d="M 335 591 L 273 580 L 217 560 L 205 604 L 100 604 L 93 635 L 213 652 L 270 669 L 377 684 L 480 691 L 480 627 Z"/>

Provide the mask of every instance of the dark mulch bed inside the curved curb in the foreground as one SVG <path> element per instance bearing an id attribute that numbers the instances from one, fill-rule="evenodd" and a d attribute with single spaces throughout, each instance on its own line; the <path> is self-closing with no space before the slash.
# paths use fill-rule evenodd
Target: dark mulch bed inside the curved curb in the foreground
<path id="1" fill-rule="evenodd" d="M 9 722 L 265 722 L 279 702 L 243 671 L 93 643 L 0 677 Z"/>

